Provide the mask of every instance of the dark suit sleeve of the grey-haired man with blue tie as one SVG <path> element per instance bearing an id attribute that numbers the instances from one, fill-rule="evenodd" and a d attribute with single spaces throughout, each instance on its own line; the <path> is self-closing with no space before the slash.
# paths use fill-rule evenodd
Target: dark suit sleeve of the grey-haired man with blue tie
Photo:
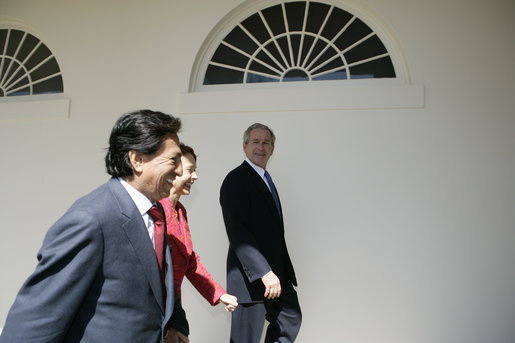
<path id="1" fill-rule="evenodd" d="M 272 270 L 251 230 L 252 211 L 249 181 L 243 176 L 229 174 L 220 189 L 220 204 L 230 249 L 232 249 L 250 282 Z"/>

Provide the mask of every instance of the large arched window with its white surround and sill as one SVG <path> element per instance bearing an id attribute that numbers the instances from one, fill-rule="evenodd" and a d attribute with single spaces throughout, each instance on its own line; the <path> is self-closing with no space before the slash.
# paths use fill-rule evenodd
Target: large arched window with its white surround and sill
<path id="1" fill-rule="evenodd" d="M 181 114 L 420 108 L 394 32 L 359 0 L 247 0 L 200 47 Z"/>

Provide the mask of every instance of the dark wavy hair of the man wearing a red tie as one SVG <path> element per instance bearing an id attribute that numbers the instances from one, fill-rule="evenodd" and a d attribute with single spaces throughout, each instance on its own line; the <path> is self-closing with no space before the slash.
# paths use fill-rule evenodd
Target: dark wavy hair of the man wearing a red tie
<path id="1" fill-rule="evenodd" d="M 152 155 L 170 135 L 181 129 L 181 120 L 152 110 L 138 110 L 122 115 L 113 126 L 105 157 L 107 173 L 113 177 L 133 174 L 129 151 Z"/>

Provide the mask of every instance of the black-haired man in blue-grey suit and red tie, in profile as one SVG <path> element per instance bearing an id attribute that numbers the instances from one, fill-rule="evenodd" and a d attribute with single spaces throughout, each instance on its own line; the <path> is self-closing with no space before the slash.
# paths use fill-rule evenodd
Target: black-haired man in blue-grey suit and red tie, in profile
<path id="1" fill-rule="evenodd" d="M 188 342 L 170 250 L 157 248 L 160 219 L 147 213 L 182 173 L 180 126 L 150 110 L 118 119 L 105 158 L 112 178 L 50 228 L 1 343 Z"/>

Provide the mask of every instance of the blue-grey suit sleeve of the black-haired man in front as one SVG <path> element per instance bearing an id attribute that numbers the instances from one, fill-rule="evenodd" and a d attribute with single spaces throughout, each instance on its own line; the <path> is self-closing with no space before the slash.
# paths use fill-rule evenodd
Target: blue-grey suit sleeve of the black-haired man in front
<path id="1" fill-rule="evenodd" d="M 47 233 L 0 342 L 62 342 L 101 266 L 103 237 L 86 212 L 68 212 Z"/>

